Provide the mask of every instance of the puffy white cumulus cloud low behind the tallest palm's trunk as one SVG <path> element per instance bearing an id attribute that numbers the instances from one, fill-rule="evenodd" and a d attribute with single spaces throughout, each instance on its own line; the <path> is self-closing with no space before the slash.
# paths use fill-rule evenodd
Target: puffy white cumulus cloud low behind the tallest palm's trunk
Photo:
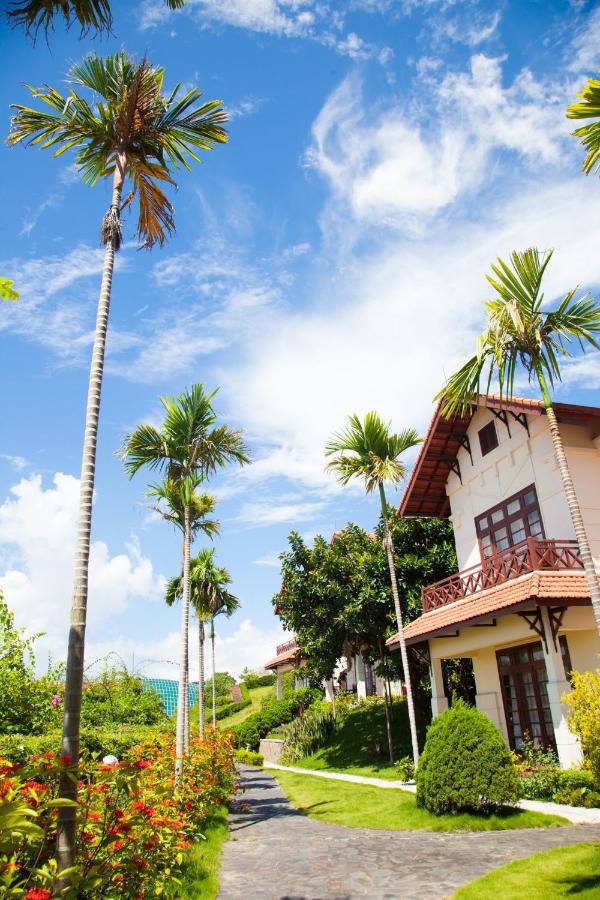
<path id="1" fill-rule="evenodd" d="M 19 625 L 44 631 L 42 650 L 64 658 L 73 586 L 79 481 L 58 472 L 52 486 L 40 475 L 23 478 L 0 506 L 0 588 Z M 136 600 L 162 596 L 157 576 L 135 538 L 112 555 L 103 541 L 90 553 L 89 623 L 92 628 Z M 43 659 L 42 659 L 43 663 Z"/>

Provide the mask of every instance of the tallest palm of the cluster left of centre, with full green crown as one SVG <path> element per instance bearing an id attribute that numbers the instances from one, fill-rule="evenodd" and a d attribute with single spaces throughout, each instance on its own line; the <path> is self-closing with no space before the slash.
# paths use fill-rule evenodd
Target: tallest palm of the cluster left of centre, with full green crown
<path id="1" fill-rule="evenodd" d="M 217 392 L 207 394 L 201 384 L 185 390 L 179 397 L 161 397 L 165 418 L 160 428 L 139 425 L 125 438 L 120 455 L 130 478 L 142 467 L 164 471 L 170 481 L 183 488 L 183 583 L 181 604 L 180 693 L 184 699 L 182 679 L 188 668 L 188 622 L 190 607 L 191 498 L 190 479 L 208 478 L 230 462 L 245 465 L 249 461 L 246 444 L 239 431 L 217 425 L 212 405 Z M 177 706 L 176 762 L 177 777 L 183 768 L 185 722 L 183 704 Z"/>

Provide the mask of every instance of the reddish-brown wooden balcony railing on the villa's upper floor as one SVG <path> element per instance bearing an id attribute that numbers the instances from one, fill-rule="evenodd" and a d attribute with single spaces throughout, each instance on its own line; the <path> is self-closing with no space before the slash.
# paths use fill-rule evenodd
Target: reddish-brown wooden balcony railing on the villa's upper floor
<path id="1" fill-rule="evenodd" d="M 538 541 L 527 538 L 508 547 L 485 562 L 450 575 L 421 590 L 423 612 L 446 603 L 464 600 L 479 591 L 504 584 L 511 578 L 540 570 L 558 572 L 561 569 L 582 569 L 577 541 Z"/>

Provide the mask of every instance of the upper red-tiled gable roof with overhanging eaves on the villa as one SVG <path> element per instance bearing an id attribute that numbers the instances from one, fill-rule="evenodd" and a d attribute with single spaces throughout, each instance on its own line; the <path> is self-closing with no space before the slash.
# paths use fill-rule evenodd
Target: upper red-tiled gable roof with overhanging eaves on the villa
<path id="1" fill-rule="evenodd" d="M 510 416 L 509 421 L 526 422 L 525 416 L 544 415 L 540 400 L 513 397 L 511 400 L 496 395 L 479 397 L 473 410 L 466 416 L 442 416 L 442 403 L 436 406 L 427 435 L 413 467 L 406 490 L 398 507 L 399 516 L 433 517 L 445 519 L 450 514 L 446 495 L 446 481 L 456 468 L 456 457 L 466 446 L 467 428 L 476 409 L 486 407 L 499 415 Z M 600 409 L 594 406 L 576 406 L 572 403 L 555 403 L 554 411 L 559 422 L 581 425 L 600 418 Z"/>

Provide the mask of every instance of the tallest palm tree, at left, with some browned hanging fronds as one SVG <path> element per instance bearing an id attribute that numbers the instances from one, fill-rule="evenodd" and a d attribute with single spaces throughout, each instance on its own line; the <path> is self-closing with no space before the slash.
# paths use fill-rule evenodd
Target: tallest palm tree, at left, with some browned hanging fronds
<path id="1" fill-rule="evenodd" d="M 146 60 L 134 62 L 122 52 L 105 58 L 88 56 L 71 69 L 67 96 L 49 86 L 30 87 L 33 96 L 51 112 L 14 104 L 16 112 L 8 137 L 12 145 L 52 148 L 55 156 L 75 150 L 75 164 L 88 185 L 112 179 L 112 200 L 101 224 L 104 268 L 89 376 L 65 677 L 62 754 L 75 762 L 79 759 L 96 442 L 114 260 L 122 237 L 121 210 L 137 200 L 137 235 L 147 248 L 162 245 L 175 224 L 173 206 L 161 186 L 174 185 L 173 168 L 189 168 L 186 155 L 197 160 L 198 149 L 208 150 L 227 140 L 222 128 L 226 115 L 220 101 L 197 106 L 201 93 L 196 88 L 177 99 L 179 85 L 165 95 L 163 80 L 163 69 L 152 67 Z M 78 93 L 80 88 L 91 93 L 89 103 L 83 93 Z M 123 203 L 126 184 L 129 193 Z M 68 799 L 76 797 L 76 782 L 67 774 L 60 793 Z M 57 854 L 61 871 L 74 863 L 75 834 L 75 808 L 61 807 Z"/>

